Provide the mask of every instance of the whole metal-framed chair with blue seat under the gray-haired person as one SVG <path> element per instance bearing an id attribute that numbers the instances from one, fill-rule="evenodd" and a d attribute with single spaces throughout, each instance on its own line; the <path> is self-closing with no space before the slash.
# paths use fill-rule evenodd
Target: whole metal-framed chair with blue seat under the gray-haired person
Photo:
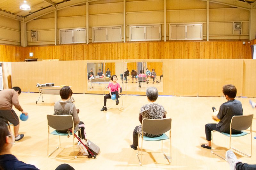
<path id="1" fill-rule="evenodd" d="M 140 147 L 138 145 L 138 152 L 137 157 L 140 161 L 140 165 L 142 165 L 142 149 L 143 149 L 143 141 L 162 141 L 162 153 L 164 157 L 168 160 L 169 164 L 172 162 L 172 141 L 171 141 L 171 125 L 172 119 L 171 118 L 164 118 L 164 119 L 143 119 L 142 120 L 142 134 L 138 137 L 138 144 L 141 137 L 141 159 L 139 158 L 139 150 Z M 169 131 L 169 137 L 165 134 L 165 132 Z M 163 134 L 160 137 L 145 137 L 143 134 L 144 132 L 152 135 Z M 170 139 L 170 159 L 166 156 L 163 152 L 163 140 Z"/>

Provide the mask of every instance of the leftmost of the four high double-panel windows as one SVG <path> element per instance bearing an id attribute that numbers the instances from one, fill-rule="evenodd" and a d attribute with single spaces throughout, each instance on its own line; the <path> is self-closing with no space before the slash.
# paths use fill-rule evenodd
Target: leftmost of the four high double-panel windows
<path id="1" fill-rule="evenodd" d="M 85 36 L 85 29 L 60 30 L 60 44 L 85 43 Z"/>

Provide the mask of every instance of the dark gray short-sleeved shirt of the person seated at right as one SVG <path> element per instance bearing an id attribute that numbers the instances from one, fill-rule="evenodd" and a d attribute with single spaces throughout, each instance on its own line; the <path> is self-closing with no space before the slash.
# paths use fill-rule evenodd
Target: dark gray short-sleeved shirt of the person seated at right
<path id="1" fill-rule="evenodd" d="M 220 122 L 217 124 L 217 128 L 220 127 L 220 132 L 229 133 L 230 123 L 233 116 L 243 115 L 243 107 L 238 100 L 229 100 L 220 106 L 217 117 Z M 241 133 L 241 131 L 232 129 L 232 133 Z"/>

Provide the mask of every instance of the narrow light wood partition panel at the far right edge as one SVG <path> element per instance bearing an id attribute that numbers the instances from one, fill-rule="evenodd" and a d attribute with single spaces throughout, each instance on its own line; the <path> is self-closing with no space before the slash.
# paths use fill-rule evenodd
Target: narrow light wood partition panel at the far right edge
<path id="1" fill-rule="evenodd" d="M 243 96 L 256 97 L 256 60 L 244 60 Z"/>

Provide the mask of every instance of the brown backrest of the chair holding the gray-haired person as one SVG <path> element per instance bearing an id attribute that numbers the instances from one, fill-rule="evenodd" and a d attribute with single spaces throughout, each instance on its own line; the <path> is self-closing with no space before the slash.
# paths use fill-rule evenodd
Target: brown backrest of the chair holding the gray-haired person
<path id="1" fill-rule="evenodd" d="M 152 135 L 163 134 L 171 130 L 172 119 L 143 119 L 142 130 Z"/>

